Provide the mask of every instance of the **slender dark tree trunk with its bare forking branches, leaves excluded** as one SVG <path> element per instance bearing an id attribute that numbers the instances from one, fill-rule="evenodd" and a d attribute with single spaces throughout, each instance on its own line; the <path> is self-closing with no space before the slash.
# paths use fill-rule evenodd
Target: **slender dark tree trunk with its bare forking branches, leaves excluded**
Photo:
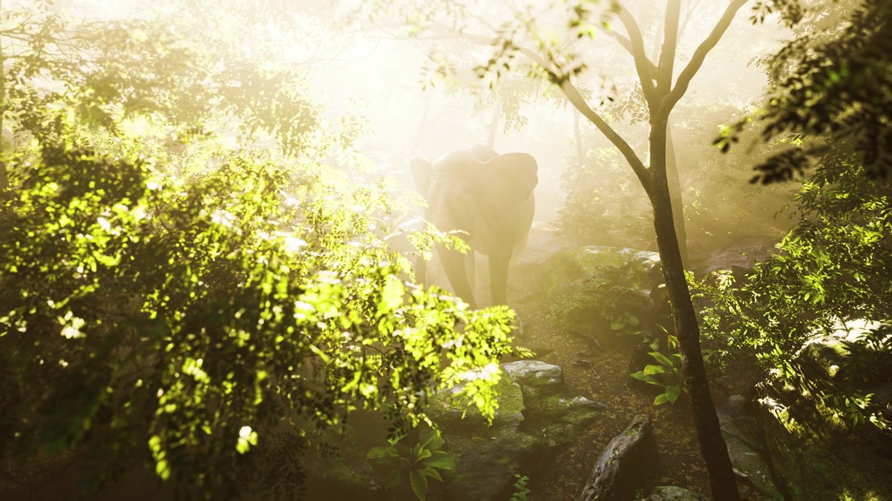
<path id="1" fill-rule="evenodd" d="M 731 466 L 728 448 L 722 437 L 718 416 L 715 414 L 712 396 L 709 393 L 706 367 L 703 364 L 703 353 L 700 351 L 700 330 L 697 315 L 690 299 L 688 283 L 685 280 L 684 260 L 681 258 L 679 237 L 675 233 L 673 201 L 666 172 L 668 154 L 666 136 L 669 115 L 672 113 L 673 107 L 687 92 L 691 78 L 697 74 L 706 55 L 722 38 L 734 16 L 744 4 L 747 4 L 747 0 L 730 0 L 722 17 L 709 35 L 698 45 L 691 55 L 690 61 L 677 75 L 677 78 L 675 78 L 673 68 L 678 42 L 681 0 L 666 0 L 664 40 L 659 62 L 656 65 L 648 59 L 647 53 L 645 53 L 638 23 L 629 11 L 620 8 L 618 18 L 624 25 L 628 37 L 615 35 L 614 38 L 632 54 L 641 89 L 648 103 L 650 113 L 649 168 L 640 160 L 623 136 L 617 134 L 607 121 L 591 109 L 582 94 L 569 80 L 563 80 L 560 84 L 561 90 L 570 103 L 573 103 L 574 107 L 581 111 L 592 125 L 598 127 L 599 131 L 611 143 L 615 144 L 619 152 L 628 160 L 629 167 L 632 168 L 635 176 L 639 178 L 641 185 L 648 193 L 654 210 L 657 248 L 663 264 L 666 292 L 669 294 L 673 324 L 681 350 L 684 382 L 690 394 L 700 453 L 706 461 L 714 501 L 738 501 L 737 478 Z M 491 40 L 485 37 L 471 37 L 471 39 L 477 40 L 477 43 L 491 43 Z M 541 54 L 530 49 L 522 49 L 521 52 L 542 68 L 550 67 L 549 62 L 543 59 Z"/>

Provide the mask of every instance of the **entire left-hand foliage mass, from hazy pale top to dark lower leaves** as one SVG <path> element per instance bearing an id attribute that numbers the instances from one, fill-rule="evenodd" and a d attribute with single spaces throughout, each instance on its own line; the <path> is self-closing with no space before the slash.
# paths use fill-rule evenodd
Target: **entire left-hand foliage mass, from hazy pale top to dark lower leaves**
<path id="1" fill-rule="evenodd" d="M 184 495 L 293 497 L 315 429 L 355 409 L 417 423 L 464 382 L 492 417 L 513 314 L 404 280 L 379 231 L 399 204 L 326 161 L 355 158 L 361 120 L 323 123 L 229 35 L 44 14 L 4 88 L 25 139 L 4 148 L 4 460 L 81 462 L 93 491 L 145 467 Z"/>

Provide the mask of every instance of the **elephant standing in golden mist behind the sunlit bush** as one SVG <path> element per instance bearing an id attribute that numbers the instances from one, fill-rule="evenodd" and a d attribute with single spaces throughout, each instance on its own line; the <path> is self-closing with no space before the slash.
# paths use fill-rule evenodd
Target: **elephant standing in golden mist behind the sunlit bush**
<path id="1" fill-rule="evenodd" d="M 442 267 L 459 298 L 477 308 L 474 297 L 474 256 L 489 257 L 492 302 L 508 304 L 508 263 L 524 249 L 533 225 L 539 184 L 538 166 L 527 153 L 500 155 L 477 144 L 449 152 L 436 162 L 415 158 L 409 168 L 417 190 L 425 195 L 425 219 L 440 231 L 460 230 L 471 247 L 466 259 L 458 250 L 436 245 Z M 425 280 L 419 259 L 419 282 Z"/>

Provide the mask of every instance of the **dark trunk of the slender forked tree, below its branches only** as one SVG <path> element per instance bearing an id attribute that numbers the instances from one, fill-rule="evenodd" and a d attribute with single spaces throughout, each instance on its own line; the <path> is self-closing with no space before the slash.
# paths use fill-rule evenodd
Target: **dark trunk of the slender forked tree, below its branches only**
<path id="1" fill-rule="evenodd" d="M 700 328 L 684 276 L 678 236 L 673 224 L 672 198 L 666 177 L 666 123 L 668 117 L 655 117 L 650 129 L 650 201 L 654 209 L 657 248 L 663 265 L 666 292 L 673 313 L 675 333 L 681 351 L 684 382 L 690 395 L 700 454 L 706 461 L 714 501 L 737 501 L 737 478 L 722 437 L 713 398 L 709 393 L 706 366 L 700 351 Z"/>

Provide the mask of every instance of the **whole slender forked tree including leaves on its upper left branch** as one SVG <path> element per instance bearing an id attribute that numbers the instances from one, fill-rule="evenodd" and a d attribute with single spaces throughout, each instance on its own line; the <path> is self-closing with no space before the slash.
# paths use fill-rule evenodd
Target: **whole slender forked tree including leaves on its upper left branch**
<path id="1" fill-rule="evenodd" d="M 370 4 L 373 7 L 368 10 L 368 15 L 399 16 L 412 27 L 413 32 L 422 31 L 431 37 L 459 37 L 477 45 L 490 45 L 489 61 L 475 69 L 484 83 L 497 81 L 508 73 L 548 79 L 622 153 L 647 192 L 653 209 L 657 246 L 684 361 L 685 382 L 690 392 L 700 450 L 706 460 L 713 497 L 737 499 L 736 479 L 706 381 L 699 346 L 698 319 L 685 280 L 680 242 L 673 220 L 676 211 L 673 210 L 670 193 L 667 138 L 669 117 L 675 104 L 685 94 L 707 53 L 719 42 L 746 1 L 732 0 L 726 6 L 719 21 L 691 54 L 690 61 L 678 72 L 677 78 L 674 63 L 681 24 L 681 0 L 668 0 L 665 4 L 662 43 L 656 62 L 648 57 L 639 22 L 628 5 L 619 2 L 611 2 L 609 12 L 599 11 L 593 4 L 582 2 L 554 2 L 542 8 L 527 6 L 518 12 L 508 12 L 510 17 L 502 17 L 507 21 L 498 27 L 488 21 L 497 15 L 494 12 L 476 12 L 476 16 L 472 16 L 466 9 L 451 3 L 440 9 L 438 6 L 443 5 L 440 3 L 414 4 L 404 9 L 388 2 Z M 490 10 L 496 9 L 491 7 Z M 506 15 L 505 12 L 500 14 Z M 580 40 L 594 37 L 597 26 L 614 19 L 613 14 L 626 34 L 612 31 L 611 36 L 632 55 L 641 92 L 647 103 L 649 166 L 624 137 L 618 135 L 599 112 L 592 109 L 574 85 L 574 79 L 587 66 L 585 49 L 580 48 Z M 556 32 L 556 25 L 566 27 L 566 37 Z M 481 30 L 489 30 L 491 35 L 481 35 L 478 33 Z"/>

